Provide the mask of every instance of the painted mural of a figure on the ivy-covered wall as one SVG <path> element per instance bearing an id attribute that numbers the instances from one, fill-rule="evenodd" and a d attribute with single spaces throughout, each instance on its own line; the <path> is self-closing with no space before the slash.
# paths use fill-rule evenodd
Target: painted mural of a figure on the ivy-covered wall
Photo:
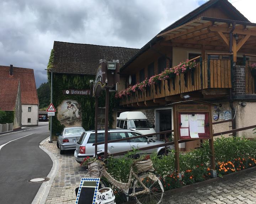
<path id="1" fill-rule="evenodd" d="M 81 126 L 81 106 L 75 100 L 63 100 L 57 107 L 57 118 L 66 127 Z"/>

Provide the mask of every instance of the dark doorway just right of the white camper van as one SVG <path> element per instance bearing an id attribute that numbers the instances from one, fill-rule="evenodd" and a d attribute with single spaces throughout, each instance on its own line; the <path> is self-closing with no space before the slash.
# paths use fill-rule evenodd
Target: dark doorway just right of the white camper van
<path id="1" fill-rule="evenodd" d="M 166 130 L 172 130 L 171 114 L 172 114 L 171 110 L 159 112 L 160 132 L 166 131 Z M 160 139 L 164 139 L 164 135 L 160 135 Z"/>

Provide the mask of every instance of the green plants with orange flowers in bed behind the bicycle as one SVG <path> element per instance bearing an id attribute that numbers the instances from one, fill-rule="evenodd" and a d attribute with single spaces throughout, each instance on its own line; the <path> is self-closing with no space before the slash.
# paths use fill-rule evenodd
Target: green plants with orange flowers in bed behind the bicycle
<path id="1" fill-rule="evenodd" d="M 256 140 L 239 137 L 221 137 L 214 141 L 215 163 L 218 176 L 240 171 L 256 165 Z M 164 182 L 165 190 L 179 188 L 210 178 L 209 143 L 191 152 L 180 153 L 180 175 L 175 172 L 175 152 L 170 151 L 162 158 L 156 153 L 150 155 L 155 173 Z M 129 152 L 123 158 L 108 158 L 108 172 L 117 180 L 127 182 L 132 156 L 138 150 Z M 181 177 L 180 177 L 181 176 Z M 118 193 L 117 193 L 118 194 Z"/>

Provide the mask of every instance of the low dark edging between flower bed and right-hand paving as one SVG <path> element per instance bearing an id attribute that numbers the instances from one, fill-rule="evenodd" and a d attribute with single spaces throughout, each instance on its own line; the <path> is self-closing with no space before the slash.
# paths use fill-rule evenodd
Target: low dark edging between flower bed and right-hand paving
<path id="1" fill-rule="evenodd" d="M 239 177 L 239 176 L 245 175 L 245 174 L 249 174 L 249 173 L 254 172 L 254 171 L 256 171 L 256 166 L 248 168 L 248 169 L 244 169 L 244 170 L 241 170 L 241 171 L 237 171 L 237 172 L 234 172 L 234 173 L 231 173 L 231 174 L 224 175 L 223 178 L 216 177 L 216 178 L 213 178 L 213 179 L 208 179 L 208 180 L 205 180 L 205 181 L 201 181 L 201 182 L 193 183 L 193 184 L 190 184 L 190 185 L 182 186 L 181 188 L 171 189 L 171 190 L 168 190 L 168 191 L 164 192 L 164 198 L 173 196 L 173 195 L 178 194 L 178 193 L 184 193 L 184 192 L 187 192 L 187 191 L 191 191 L 191 190 L 193 190 L 194 188 L 197 188 L 197 187 L 202 187 L 202 186 L 206 186 L 206 185 L 209 185 L 209 184 L 214 184 L 215 182 L 227 181 L 231 178 Z M 132 201 L 128 201 L 128 202 L 123 203 L 123 204 L 136 204 L 136 202 L 134 200 L 132 200 Z"/>

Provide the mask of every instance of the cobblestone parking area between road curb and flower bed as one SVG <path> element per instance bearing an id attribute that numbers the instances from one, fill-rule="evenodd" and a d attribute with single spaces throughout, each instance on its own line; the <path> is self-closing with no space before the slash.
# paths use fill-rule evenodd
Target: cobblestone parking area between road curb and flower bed
<path id="1" fill-rule="evenodd" d="M 45 204 L 74 204 L 75 188 L 79 186 L 81 177 L 86 177 L 84 171 L 75 161 L 74 151 L 66 151 L 60 155 L 56 142 L 43 145 L 59 159 L 59 171 L 54 179 Z"/>

